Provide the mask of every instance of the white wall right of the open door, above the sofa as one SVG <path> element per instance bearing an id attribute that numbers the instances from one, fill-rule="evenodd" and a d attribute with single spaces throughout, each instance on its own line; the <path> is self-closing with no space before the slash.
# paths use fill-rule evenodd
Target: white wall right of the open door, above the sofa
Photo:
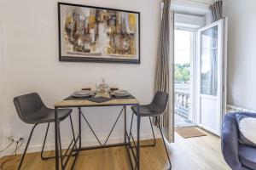
<path id="1" fill-rule="evenodd" d="M 229 17 L 228 104 L 256 110 L 256 1 L 225 0 Z"/>

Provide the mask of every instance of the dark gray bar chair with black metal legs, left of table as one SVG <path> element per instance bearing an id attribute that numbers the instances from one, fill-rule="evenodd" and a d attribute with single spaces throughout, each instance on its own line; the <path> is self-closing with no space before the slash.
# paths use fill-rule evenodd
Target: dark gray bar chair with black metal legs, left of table
<path id="1" fill-rule="evenodd" d="M 14 99 L 14 104 L 15 104 L 17 114 L 20 117 L 20 120 L 23 122 L 26 122 L 28 124 L 33 124 L 31 133 L 30 133 L 29 138 L 26 143 L 26 148 L 21 157 L 20 164 L 18 167 L 18 169 L 20 170 L 20 168 L 22 166 L 22 162 L 24 161 L 24 158 L 26 156 L 26 150 L 28 148 L 30 140 L 32 139 L 32 133 L 33 133 L 35 127 L 37 127 L 38 124 L 47 123 L 46 133 L 44 136 L 44 144 L 45 144 L 47 134 L 49 131 L 49 123 L 55 122 L 55 110 L 49 109 L 48 107 L 46 107 L 44 105 L 42 99 L 40 98 L 40 96 L 37 93 L 24 94 L 24 95 L 17 96 Z M 69 116 L 71 127 L 72 127 L 73 140 L 74 140 L 75 136 L 74 136 L 74 131 L 73 131 L 72 117 L 70 115 L 71 112 L 72 112 L 71 109 L 61 109 L 59 112 L 58 122 L 60 123 L 61 121 L 63 121 L 64 119 L 66 119 Z M 59 141 L 61 144 L 61 137 L 60 137 Z M 50 156 L 50 157 L 43 156 L 44 144 L 43 144 L 42 151 L 41 151 L 41 159 L 47 160 L 50 158 L 55 158 L 55 156 Z M 62 157 L 61 157 L 61 159 L 62 159 Z"/>

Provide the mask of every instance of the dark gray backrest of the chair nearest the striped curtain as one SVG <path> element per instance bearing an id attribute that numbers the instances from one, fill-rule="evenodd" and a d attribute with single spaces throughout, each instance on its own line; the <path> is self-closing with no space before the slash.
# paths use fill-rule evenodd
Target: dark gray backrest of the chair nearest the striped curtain
<path id="1" fill-rule="evenodd" d="M 167 104 L 168 104 L 169 94 L 166 92 L 156 92 L 154 94 L 154 99 L 152 100 L 151 104 L 156 108 L 157 111 L 160 112 L 160 114 L 163 114 L 166 111 Z"/>

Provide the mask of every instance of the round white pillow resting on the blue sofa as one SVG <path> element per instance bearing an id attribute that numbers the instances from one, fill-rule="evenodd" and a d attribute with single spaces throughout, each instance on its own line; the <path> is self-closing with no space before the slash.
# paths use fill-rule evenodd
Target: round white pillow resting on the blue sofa
<path id="1" fill-rule="evenodd" d="M 236 120 L 239 128 L 239 142 L 256 146 L 256 114 L 249 112 L 236 114 Z"/>

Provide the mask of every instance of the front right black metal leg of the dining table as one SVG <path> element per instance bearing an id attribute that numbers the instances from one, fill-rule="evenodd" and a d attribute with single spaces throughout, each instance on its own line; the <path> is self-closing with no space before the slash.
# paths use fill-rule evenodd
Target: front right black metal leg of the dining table
<path id="1" fill-rule="evenodd" d="M 136 152 L 137 152 L 137 170 L 140 169 L 140 127 L 141 127 L 141 116 L 140 116 L 140 111 L 139 111 L 139 105 L 137 105 L 137 147 L 136 147 Z"/>

